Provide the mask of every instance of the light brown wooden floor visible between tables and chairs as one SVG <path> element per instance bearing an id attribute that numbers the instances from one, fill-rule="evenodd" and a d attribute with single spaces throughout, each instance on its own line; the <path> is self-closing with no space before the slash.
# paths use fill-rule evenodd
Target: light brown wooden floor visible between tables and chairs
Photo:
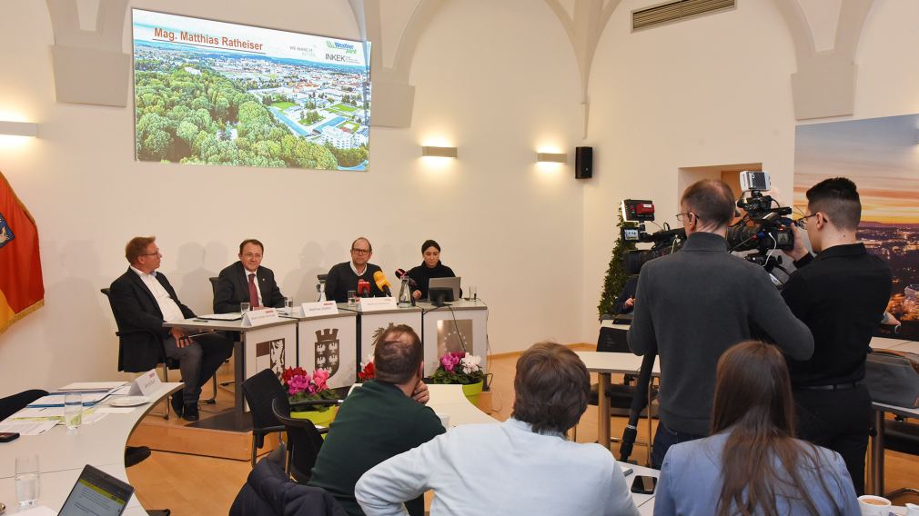
<path id="1" fill-rule="evenodd" d="M 590 350 L 593 346 L 576 346 Z M 492 359 L 489 370 L 493 373 L 491 393 L 483 393 L 480 407 L 494 418 L 504 421 L 511 415 L 514 405 L 514 371 L 518 354 L 508 354 Z M 596 382 L 596 377 L 594 378 Z M 613 377 L 613 381 L 621 378 Z M 207 392 L 205 393 L 207 394 Z M 229 401 L 230 394 L 221 389 L 218 398 L 221 403 Z M 172 421 L 172 420 L 170 420 Z M 612 435 L 621 436 L 625 418 L 613 418 Z M 174 421 L 174 424 L 180 424 Z M 587 408 L 578 424 L 577 440 L 582 443 L 596 442 L 596 407 Z M 656 427 L 655 427 L 656 428 Z M 639 441 L 647 440 L 643 424 L 639 429 Z M 618 444 L 614 443 L 618 455 Z M 912 486 L 919 488 L 919 458 L 912 455 L 886 453 L 886 488 Z M 632 454 L 639 464 L 645 464 L 647 450 L 635 446 Z M 191 454 L 153 452 L 153 455 L 137 466 L 128 469 L 131 485 L 147 509 L 170 509 L 176 516 L 227 514 L 236 493 L 249 475 L 248 461 L 203 457 Z M 907 501 L 919 503 L 917 497 L 897 500 L 901 505 Z M 429 500 L 428 500 L 429 502 Z"/>

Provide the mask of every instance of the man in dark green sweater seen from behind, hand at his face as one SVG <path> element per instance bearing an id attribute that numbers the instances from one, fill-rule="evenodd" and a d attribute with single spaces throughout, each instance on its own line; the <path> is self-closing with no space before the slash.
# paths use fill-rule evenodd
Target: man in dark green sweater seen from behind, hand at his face
<path id="1" fill-rule="evenodd" d="M 421 339 L 405 325 L 384 331 L 374 346 L 375 378 L 346 398 L 312 468 L 310 485 L 332 493 L 348 514 L 363 515 L 354 498 L 357 479 L 391 456 L 427 443 L 444 432 L 425 407 L 427 386 Z M 425 513 L 425 499 L 405 503 L 409 514 Z"/>

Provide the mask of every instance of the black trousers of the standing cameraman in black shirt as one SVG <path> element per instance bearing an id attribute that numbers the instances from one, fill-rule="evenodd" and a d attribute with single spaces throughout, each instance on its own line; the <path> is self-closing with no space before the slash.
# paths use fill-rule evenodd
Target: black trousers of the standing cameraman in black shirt
<path id="1" fill-rule="evenodd" d="M 865 494 L 865 454 L 871 431 L 868 388 L 843 390 L 796 388 L 798 438 L 829 448 L 843 456 L 856 495 Z"/>

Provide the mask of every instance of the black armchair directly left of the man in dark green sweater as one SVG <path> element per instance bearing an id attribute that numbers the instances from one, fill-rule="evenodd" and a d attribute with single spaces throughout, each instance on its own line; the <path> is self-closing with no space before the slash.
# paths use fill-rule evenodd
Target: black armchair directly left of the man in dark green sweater
<path id="1" fill-rule="evenodd" d="M 323 436 L 310 420 L 290 417 L 291 407 L 335 406 L 340 399 L 314 399 L 289 403 L 286 396 L 274 398 L 271 409 L 287 430 L 288 473 L 301 484 L 306 484 L 312 477 L 312 466 L 316 466 L 316 457 L 323 446 Z"/>

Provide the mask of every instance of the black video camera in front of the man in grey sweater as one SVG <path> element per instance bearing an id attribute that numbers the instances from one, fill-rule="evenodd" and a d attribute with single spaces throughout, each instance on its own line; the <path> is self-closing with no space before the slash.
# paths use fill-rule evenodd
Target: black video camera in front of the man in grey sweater
<path id="1" fill-rule="evenodd" d="M 647 200 L 625 199 L 622 201 L 622 219 L 625 224 L 621 230 L 623 241 L 628 242 L 652 242 L 651 249 L 635 250 L 626 252 L 622 257 L 622 263 L 625 266 L 626 274 L 637 275 L 649 260 L 666 256 L 671 252 L 679 251 L 686 241 L 686 230 L 680 228 L 671 230 L 670 226 L 664 223 L 664 227 L 653 233 L 645 230 L 644 222 L 654 221 L 654 203 Z"/>

